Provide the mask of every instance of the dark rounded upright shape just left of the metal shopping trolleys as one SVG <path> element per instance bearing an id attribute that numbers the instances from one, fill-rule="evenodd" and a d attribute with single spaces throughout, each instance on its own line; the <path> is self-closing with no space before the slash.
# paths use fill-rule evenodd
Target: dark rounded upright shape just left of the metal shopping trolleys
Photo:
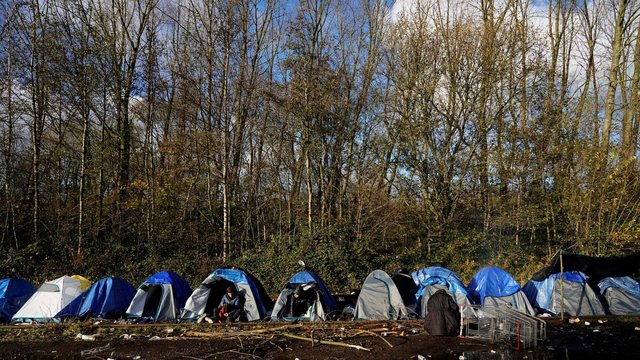
<path id="1" fill-rule="evenodd" d="M 427 302 L 424 329 L 429 335 L 456 336 L 460 328 L 460 308 L 446 290 L 436 291 Z"/>

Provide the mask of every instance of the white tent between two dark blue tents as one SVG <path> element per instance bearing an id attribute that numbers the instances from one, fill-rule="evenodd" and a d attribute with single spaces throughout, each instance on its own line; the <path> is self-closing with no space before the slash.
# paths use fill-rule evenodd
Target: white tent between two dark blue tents
<path id="1" fill-rule="evenodd" d="M 85 291 L 91 282 L 79 275 L 47 281 L 13 315 L 12 322 L 48 322 Z"/>

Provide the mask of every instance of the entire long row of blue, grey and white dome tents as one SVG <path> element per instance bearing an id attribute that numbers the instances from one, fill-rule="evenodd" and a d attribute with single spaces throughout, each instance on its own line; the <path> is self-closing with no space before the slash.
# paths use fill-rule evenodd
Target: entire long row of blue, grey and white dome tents
<path id="1" fill-rule="evenodd" d="M 345 313 L 357 320 L 424 317 L 429 297 L 440 289 L 452 296 L 463 317 L 476 316 L 478 308 L 489 309 L 501 304 L 509 304 L 528 315 L 640 314 L 640 284 L 628 276 L 603 277 L 628 272 L 640 262 L 620 271 L 603 272 L 594 271 L 593 266 L 597 264 L 585 262 L 584 258 L 562 255 L 565 259 L 561 271 L 555 272 L 553 263 L 524 287 L 497 267 L 483 268 L 468 286 L 464 286 L 453 271 L 439 266 L 411 274 L 401 271 L 393 276 L 375 270 L 364 280 L 355 306 L 346 309 L 338 309 L 324 281 L 309 270 L 293 275 L 275 302 L 254 276 L 237 268 L 213 271 L 194 291 L 187 281 L 171 271 L 154 274 L 137 290 L 118 277 L 106 277 L 92 284 L 79 275 L 63 276 L 45 282 L 38 289 L 28 281 L 11 278 L 0 280 L 0 321 L 30 323 L 90 317 L 201 321 L 214 314 L 229 286 L 245 296 L 248 321 L 315 321 Z M 629 261 L 623 260 L 625 264 Z M 590 277 L 588 273 L 595 275 Z M 311 294 L 313 305 L 304 316 L 287 318 L 283 311 L 285 304 L 299 287 Z"/>

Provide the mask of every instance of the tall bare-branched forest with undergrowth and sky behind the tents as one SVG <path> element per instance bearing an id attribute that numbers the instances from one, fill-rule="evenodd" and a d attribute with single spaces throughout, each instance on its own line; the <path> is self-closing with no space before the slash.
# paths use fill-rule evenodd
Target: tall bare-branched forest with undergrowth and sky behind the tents
<path id="1" fill-rule="evenodd" d="M 3 0 L 0 277 L 640 251 L 638 0 Z"/>

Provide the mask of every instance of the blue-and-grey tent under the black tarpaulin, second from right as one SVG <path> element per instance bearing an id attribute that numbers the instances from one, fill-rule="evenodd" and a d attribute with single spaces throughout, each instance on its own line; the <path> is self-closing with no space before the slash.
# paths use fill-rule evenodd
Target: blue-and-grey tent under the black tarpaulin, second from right
<path id="1" fill-rule="evenodd" d="M 532 279 L 522 291 L 531 305 L 542 312 L 558 315 L 564 311 L 574 316 L 605 314 L 598 296 L 587 283 L 587 276 L 579 271 L 568 271 L 562 276 L 551 274 L 542 281 Z"/>

